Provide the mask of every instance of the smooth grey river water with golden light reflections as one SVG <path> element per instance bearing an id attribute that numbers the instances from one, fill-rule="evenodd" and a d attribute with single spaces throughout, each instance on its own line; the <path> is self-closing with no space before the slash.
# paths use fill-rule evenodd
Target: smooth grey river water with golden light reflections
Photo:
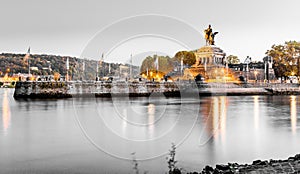
<path id="1" fill-rule="evenodd" d="M 0 89 L 0 173 L 165 173 L 300 153 L 300 96 L 13 99 Z"/>

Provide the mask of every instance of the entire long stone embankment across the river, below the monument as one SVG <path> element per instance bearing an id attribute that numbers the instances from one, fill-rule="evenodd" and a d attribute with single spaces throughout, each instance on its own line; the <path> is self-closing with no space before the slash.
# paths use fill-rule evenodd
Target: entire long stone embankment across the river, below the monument
<path id="1" fill-rule="evenodd" d="M 17 82 L 14 98 L 300 95 L 299 84 L 184 82 Z"/>

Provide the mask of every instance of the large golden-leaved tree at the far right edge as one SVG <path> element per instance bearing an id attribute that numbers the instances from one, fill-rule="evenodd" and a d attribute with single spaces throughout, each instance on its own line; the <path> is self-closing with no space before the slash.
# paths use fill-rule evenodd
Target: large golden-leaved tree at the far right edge
<path id="1" fill-rule="evenodd" d="M 273 68 L 277 77 L 299 75 L 299 42 L 289 41 L 284 45 L 273 45 L 266 54 L 273 58 Z"/>

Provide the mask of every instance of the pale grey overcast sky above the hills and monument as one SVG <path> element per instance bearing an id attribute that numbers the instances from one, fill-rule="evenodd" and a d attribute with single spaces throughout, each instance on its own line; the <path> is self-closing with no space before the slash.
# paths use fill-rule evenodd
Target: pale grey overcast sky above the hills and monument
<path id="1" fill-rule="evenodd" d="M 128 58 L 129 52 L 163 52 L 173 56 L 176 51 L 203 46 L 203 30 L 211 24 L 219 32 L 216 45 L 227 55 L 261 60 L 273 44 L 300 38 L 299 0 L 0 3 L 0 52 L 25 53 L 30 46 L 33 54 L 86 57 L 86 52 L 97 50 L 91 58 L 101 57 L 101 52 L 107 59 Z"/>

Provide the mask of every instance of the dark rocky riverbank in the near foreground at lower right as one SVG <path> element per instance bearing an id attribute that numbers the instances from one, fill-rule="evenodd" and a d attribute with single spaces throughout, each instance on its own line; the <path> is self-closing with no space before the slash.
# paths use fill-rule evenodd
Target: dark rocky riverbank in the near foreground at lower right
<path id="1" fill-rule="evenodd" d="M 200 173 L 300 173 L 300 154 L 285 160 L 255 160 L 252 164 L 217 164 L 215 168 L 206 166 Z"/>

